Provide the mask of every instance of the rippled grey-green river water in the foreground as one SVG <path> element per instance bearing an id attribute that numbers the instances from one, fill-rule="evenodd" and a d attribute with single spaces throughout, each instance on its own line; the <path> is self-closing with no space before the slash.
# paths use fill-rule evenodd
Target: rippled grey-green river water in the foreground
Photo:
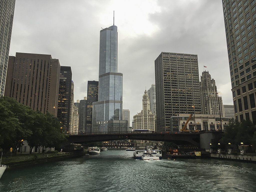
<path id="1" fill-rule="evenodd" d="M 215 159 L 142 161 L 133 151 L 7 169 L 0 192 L 256 191 L 256 165 Z"/>

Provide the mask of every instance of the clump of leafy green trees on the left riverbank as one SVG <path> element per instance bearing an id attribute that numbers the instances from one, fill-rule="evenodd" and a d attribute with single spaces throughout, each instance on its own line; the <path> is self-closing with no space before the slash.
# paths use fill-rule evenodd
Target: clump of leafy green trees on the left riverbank
<path id="1" fill-rule="evenodd" d="M 48 113 L 34 111 L 14 98 L 0 97 L 0 147 L 17 148 L 26 140 L 33 147 L 54 147 L 67 140 L 59 120 Z"/>

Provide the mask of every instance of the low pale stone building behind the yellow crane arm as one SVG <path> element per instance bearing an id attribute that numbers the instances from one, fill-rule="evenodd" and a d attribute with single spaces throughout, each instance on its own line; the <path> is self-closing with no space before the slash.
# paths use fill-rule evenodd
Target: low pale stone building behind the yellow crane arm
<path id="1" fill-rule="evenodd" d="M 181 132 L 181 129 L 185 125 L 188 117 L 189 117 L 189 114 L 178 114 L 178 116 L 172 116 L 170 118 L 170 122 L 173 127 L 171 131 Z M 230 119 L 231 118 L 221 118 L 222 130 L 225 130 L 225 128 L 228 126 Z M 194 118 L 191 118 L 187 124 L 187 129 L 189 131 L 195 130 L 194 128 L 195 122 L 196 122 L 196 129 L 198 129 L 199 131 L 202 131 L 202 130 L 212 131 L 212 130 L 221 129 L 219 115 L 195 114 L 195 120 Z"/>

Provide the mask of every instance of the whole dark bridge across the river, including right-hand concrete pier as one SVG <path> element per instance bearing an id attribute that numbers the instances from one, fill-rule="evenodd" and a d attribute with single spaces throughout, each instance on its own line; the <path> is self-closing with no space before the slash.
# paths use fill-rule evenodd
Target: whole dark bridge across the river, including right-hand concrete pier
<path id="1" fill-rule="evenodd" d="M 217 147 L 222 132 L 191 132 L 191 133 L 118 133 L 118 134 L 74 134 L 69 135 L 68 142 L 63 143 L 62 147 L 70 143 L 92 143 L 100 141 L 114 140 L 147 140 L 147 141 L 166 141 L 177 145 L 193 145 L 198 148 Z"/>

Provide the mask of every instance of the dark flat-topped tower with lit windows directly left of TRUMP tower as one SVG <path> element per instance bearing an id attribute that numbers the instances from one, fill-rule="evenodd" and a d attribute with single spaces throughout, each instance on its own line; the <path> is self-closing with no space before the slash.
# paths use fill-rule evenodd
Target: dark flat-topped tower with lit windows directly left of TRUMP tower
<path id="1" fill-rule="evenodd" d="M 87 83 L 87 118 L 85 133 L 92 133 L 92 103 L 98 101 L 99 81 L 88 81 Z"/>

